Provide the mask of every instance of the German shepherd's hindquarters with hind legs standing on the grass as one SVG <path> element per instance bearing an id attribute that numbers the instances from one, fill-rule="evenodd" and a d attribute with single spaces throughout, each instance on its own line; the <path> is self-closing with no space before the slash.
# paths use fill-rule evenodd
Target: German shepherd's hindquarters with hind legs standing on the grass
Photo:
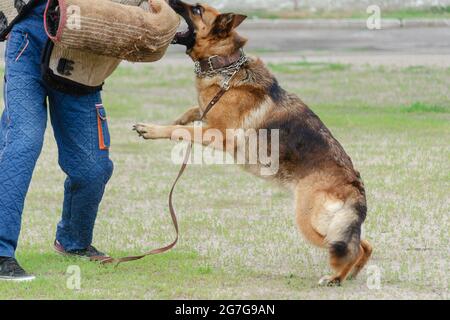
<path id="1" fill-rule="evenodd" d="M 335 274 L 323 277 L 319 284 L 340 285 L 354 267 L 360 266 L 359 262 L 365 264 L 367 246 L 360 240 L 365 207 L 350 204 L 355 202 L 351 199 L 339 200 L 326 191 L 317 191 L 320 185 L 314 187 L 314 182 L 308 182 L 299 184 L 295 193 L 297 223 L 307 240 L 329 250 Z"/>

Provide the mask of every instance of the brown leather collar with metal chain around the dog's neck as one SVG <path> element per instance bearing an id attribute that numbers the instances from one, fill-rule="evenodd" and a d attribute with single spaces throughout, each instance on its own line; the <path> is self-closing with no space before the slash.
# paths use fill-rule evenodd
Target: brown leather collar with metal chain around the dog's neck
<path id="1" fill-rule="evenodd" d="M 217 74 L 233 74 L 247 62 L 244 50 L 240 49 L 230 56 L 211 56 L 195 62 L 195 74 L 201 78 Z"/>

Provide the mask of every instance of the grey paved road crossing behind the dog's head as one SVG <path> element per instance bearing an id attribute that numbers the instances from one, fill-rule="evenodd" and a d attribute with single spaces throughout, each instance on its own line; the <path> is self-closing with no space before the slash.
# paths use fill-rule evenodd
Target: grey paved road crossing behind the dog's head
<path id="1" fill-rule="evenodd" d="M 352 28 L 326 28 L 317 22 L 248 21 L 240 29 L 247 49 L 267 61 L 332 61 L 352 64 L 450 66 L 449 27 L 387 28 L 370 31 L 361 22 Z M 1 56 L 3 49 L 0 45 Z M 188 63 L 181 47 L 172 47 L 161 63 Z"/>

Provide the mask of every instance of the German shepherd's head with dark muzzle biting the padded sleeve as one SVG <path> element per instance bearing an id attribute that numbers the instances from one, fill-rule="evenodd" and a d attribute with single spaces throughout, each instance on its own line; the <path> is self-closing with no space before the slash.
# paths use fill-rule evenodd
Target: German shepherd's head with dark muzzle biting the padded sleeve
<path id="1" fill-rule="evenodd" d="M 247 42 L 235 31 L 247 16 L 220 13 L 206 4 L 190 5 L 180 0 L 169 0 L 169 4 L 188 25 L 188 30 L 176 34 L 174 43 L 186 46 L 194 60 L 233 54 Z"/>

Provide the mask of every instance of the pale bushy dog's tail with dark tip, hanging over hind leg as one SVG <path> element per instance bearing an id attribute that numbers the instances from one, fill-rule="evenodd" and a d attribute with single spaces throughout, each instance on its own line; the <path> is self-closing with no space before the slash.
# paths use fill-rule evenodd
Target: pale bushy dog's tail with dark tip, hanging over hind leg
<path id="1" fill-rule="evenodd" d="M 326 236 L 330 254 L 340 262 L 357 258 L 361 243 L 361 225 L 367 214 L 365 200 L 346 205 L 335 213 Z"/>

